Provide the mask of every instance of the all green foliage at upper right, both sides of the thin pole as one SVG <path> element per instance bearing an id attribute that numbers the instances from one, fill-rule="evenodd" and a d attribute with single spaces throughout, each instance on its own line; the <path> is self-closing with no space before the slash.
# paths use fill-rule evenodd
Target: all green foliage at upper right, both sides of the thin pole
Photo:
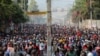
<path id="1" fill-rule="evenodd" d="M 100 0 L 91 1 L 92 9 L 90 9 L 90 0 L 75 0 L 75 5 L 73 6 L 71 11 L 76 11 L 78 12 L 78 14 L 76 16 L 73 16 L 73 20 L 81 20 L 82 18 L 89 19 L 91 10 L 93 13 L 93 19 L 100 19 Z"/>

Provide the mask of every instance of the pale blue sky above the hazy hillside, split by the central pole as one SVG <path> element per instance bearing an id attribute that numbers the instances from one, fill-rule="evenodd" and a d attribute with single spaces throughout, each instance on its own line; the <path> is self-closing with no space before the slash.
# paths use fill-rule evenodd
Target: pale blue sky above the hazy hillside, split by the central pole
<path id="1" fill-rule="evenodd" d="M 35 0 L 40 10 L 46 10 L 47 0 Z M 55 8 L 70 8 L 74 0 L 52 0 L 52 9 Z"/>

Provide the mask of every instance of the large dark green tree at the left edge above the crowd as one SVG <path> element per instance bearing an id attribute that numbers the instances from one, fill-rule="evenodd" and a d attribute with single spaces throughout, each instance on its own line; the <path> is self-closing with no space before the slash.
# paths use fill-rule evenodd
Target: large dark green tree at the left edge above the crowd
<path id="1" fill-rule="evenodd" d="M 28 20 L 22 9 L 11 0 L 0 0 L 0 28 L 9 27 L 10 23 L 24 23 Z"/>

